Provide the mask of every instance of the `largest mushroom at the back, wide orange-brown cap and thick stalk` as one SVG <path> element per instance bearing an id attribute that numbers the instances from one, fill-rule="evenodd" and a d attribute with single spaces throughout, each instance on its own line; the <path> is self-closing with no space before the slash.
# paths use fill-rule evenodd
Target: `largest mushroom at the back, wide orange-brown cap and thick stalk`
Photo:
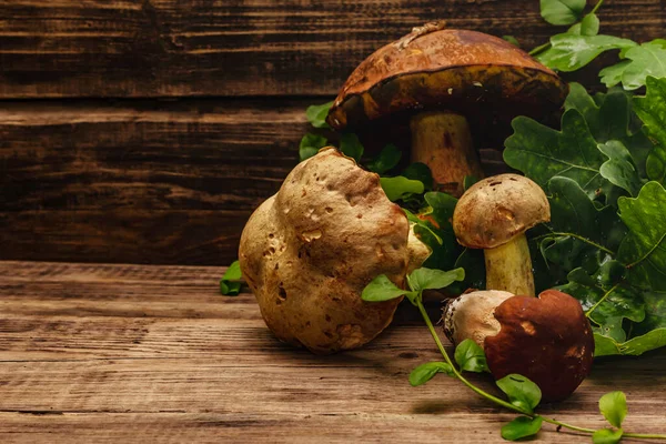
<path id="1" fill-rule="evenodd" d="M 442 28 L 415 28 L 365 59 L 326 121 L 342 130 L 389 115 L 411 119 L 412 161 L 426 163 L 440 188 L 457 196 L 465 175 L 483 176 L 468 119 L 486 127 L 497 115 L 541 119 L 562 105 L 568 87 L 500 38 Z"/>

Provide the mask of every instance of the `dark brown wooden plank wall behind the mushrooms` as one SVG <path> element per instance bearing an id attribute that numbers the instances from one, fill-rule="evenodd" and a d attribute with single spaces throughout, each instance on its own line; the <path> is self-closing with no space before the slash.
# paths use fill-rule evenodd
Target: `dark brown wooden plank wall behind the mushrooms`
<path id="1" fill-rule="evenodd" d="M 602 31 L 665 37 L 666 2 Z M 304 109 L 423 22 L 526 48 L 537 0 L 0 0 L 0 259 L 225 264 Z"/>

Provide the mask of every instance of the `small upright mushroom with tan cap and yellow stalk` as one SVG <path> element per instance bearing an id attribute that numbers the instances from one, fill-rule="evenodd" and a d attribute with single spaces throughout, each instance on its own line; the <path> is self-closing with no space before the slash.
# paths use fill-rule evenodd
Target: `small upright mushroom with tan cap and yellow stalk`
<path id="1" fill-rule="evenodd" d="M 525 231 L 551 220 L 544 191 L 517 174 L 500 174 L 472 185 L 453 212 L 457 241 L 484 249 L 486 289 L 534 296 Z"/>

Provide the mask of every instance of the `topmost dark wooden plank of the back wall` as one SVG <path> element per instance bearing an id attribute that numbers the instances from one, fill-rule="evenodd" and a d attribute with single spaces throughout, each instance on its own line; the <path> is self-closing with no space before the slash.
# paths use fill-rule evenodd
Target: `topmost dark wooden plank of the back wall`
<path id="1" fill-rule="evenodd" d="M 660 0 L 604 4 L 603 31 L 664 37 Z M 0 98 L 334 94 L 413 27 L 516 36 L 554 28 L 536 0 L 0 1 Z"/>

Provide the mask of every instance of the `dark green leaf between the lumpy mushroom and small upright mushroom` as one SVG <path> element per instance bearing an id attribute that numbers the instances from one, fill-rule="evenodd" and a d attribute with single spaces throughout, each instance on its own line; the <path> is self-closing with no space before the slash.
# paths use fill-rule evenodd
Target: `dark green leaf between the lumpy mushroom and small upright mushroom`
<path id="1" fill-rule="evenodd" d="M 451 224 L 457 199 L 436 191 L 425 193 L 424 199 L 428 206 L 416 214 L 420 223 L 414 226 L 414 234 L 432 250 L 423 266 L 451 270 L 462 251 Z"/>

